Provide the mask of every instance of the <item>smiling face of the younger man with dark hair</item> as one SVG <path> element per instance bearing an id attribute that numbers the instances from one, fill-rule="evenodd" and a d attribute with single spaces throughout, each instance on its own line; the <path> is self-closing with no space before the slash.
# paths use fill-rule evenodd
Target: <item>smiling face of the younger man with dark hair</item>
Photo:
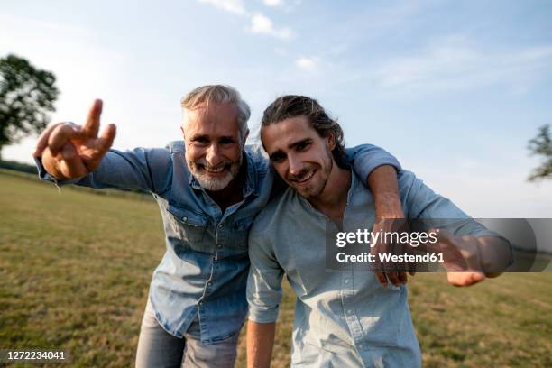
<path id="1" fill-rule="evenodd" d="M 334 164 L 333 137 L 321 137 L 306 116 L 295 116 L 263 126 L 261 138 L 281 179 L 305 198 L 322 194 Z"/>

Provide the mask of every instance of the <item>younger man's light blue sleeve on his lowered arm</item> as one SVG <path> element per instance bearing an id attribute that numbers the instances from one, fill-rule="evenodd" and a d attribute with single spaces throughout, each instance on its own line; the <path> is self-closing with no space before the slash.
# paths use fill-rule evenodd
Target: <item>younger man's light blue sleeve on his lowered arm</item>
<path id="1" fill-rule="evenodd" d="M 270 242 L 266 240 L 266 235 L 254 228 L 249 234 L 249 258 L 249 319 L 257 323 L 276 322 L 282 295 L 283 270 L 276 260 Z"/>

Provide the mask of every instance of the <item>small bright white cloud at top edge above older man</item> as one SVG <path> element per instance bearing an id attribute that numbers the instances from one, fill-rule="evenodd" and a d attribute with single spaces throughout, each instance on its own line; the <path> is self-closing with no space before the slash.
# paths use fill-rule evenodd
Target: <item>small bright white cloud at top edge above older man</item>
<path id="1" fill-rule="evenodd" d="M 198 0 L 200 3 L 214 5 L 225 12 L 249 18 L 247 31 L 256 34 L 265 34 L 281 40 L 290 40 L 293 32 L 288 27 L 276 27 L 271 18 L 262 13 L 252 13 L 245 8 L 243 0 Z M 265 5 L 282 5 L 281 0 L 264 0 Z"/>

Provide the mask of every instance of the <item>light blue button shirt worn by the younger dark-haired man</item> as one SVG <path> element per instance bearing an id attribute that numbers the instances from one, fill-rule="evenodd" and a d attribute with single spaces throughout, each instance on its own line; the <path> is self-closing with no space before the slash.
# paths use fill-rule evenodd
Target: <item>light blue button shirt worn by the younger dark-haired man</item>
<path id="1" fill-rule="evenodd" d="M 493 235 L 409 171 L 400 172 L 399 189 L 407 218 L 457 218 L 447 228 L 452 234 Z M 374 218 L 372 194 L 353 173 L 343 231 L 372 231 Z M 420 366 L 407 287 L 382 287 L 363 262 L 327 271 L 327 224 L 291 188 L 256 217 L 249 235 L 249 319 L 276 321 L 285 273 L 297 297 L 292 366 Z"/>

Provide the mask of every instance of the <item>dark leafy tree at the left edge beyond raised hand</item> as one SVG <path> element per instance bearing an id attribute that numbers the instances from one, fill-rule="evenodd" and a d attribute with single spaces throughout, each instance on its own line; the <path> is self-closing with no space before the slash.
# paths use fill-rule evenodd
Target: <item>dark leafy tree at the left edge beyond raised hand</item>
<path id="1" fill-rule="evenodd" d="M 55 82 L 53 73 L 14 54 L 0 59 L 0 154 L 5 145 L 48 125 L 60 94 Z"/>

